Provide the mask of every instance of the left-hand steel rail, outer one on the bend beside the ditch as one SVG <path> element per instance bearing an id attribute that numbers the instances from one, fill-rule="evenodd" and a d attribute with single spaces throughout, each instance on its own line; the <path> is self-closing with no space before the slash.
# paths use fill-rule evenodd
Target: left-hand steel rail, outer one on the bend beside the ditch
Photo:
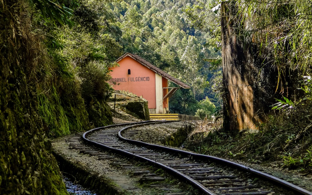
<path id="1" fill-rule="evenodd" d="M 172 121 L 143 121 L 143 122 L 139 122 L 140 124 L 139 125 L 142 125 L 142 124 L 158 124 L 158 123 L 170 123 Z M 175 121 L 177 122 L 177 120 Z M 87 139 L 86 138 L 86 135 L 87 134 L 90 134 L 90 133 L 93 133 L 94 131 L 98 131 L 98 130 L 101 130 L 101 129 L 106 129 L 106 128 L 110 128 L 110 127 L 117 127 L 117 126 L 124 126 L 124 125 L 129 125 L 129 124 L 133 124 L 133 123 L 125 123 L 125 124 L 116 124 L 116 125 L 108 125 L 108 126 L 105 126 L 105 127 L 99 127 L 99 128 L 95 128 L 95 129 L 91 129 L 89 131 L 86 131 L 83 135 L 82 135 L 82 139 L 84 141 L 86 141 L 87 143 L 93 145 L 93 146 L 97 146 L 99 148 L 104 148 L 104 149 L 108 149 L 108 150 L 111 150 L 117 154 L 121 154 L 121 155 L 124 155 L 128 158 L 134 158 L 134 159 L 139 159 L 141 161 L 144 161 L 144 162 L 148 162 L 148 163 L 151 163 L 151 164 L 154 164 L 156 165 L 157 167 L 159 168 L 163 168 L 165 170 L 167 170 L 168 172 L 174 174 L 175 176 L 177 176 L 178 178 L 180 178 L 182 181 L 185 181 L 186 183 L 189 183 L 191 184 L 192 186 L 194 186 L 195 188 L 201 190 L 202 192 L 208 194 L 208 195 L 216 195 L 215 193 L 213 193 L 212 191 L 210 191 L 209 189 L 207 189 L 205 186 L 203 186 L 201 183 L 197 182 L 196 180 L 188 177 L 187 175 L 175 170 L 174 168 L 171 168 L 167 165 L 164 165 L 162 163 L 158 163 L 156 161 L 153 161 L 149 158 L 145 158 L 145 157 L 142 157 L 142 156 L 139 156 L 137 154 L 133 154 L 133 153 L 130 153 L 130 152 L 127 152 L 127 151 L 124 151 L 124 150 L 121 150 L 121 149 L 116 149 L 116 148 L 112 148 L 110 146 L 106 146 L 104 144 L 100 144 L 100 143 L 97 143 L 95 141 L 92 141 L 90 139 Z M 133 125 L 131 125 L 130 127 L 132 127 Z"/>

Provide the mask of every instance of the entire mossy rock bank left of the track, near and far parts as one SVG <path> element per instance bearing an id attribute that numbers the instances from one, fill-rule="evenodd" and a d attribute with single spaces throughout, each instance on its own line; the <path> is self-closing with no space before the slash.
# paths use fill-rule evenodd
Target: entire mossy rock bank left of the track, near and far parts
<path id="1" fill-rule="evenodd" d="M 57 71 L 32 31 L 28 8 L 0 1 L 0 194 L 68 194 L 48 138 L 88 130 L 89 119 L 111 124 L 111 113 L 105 100 L 86 108 L 75 76 Z"/>

